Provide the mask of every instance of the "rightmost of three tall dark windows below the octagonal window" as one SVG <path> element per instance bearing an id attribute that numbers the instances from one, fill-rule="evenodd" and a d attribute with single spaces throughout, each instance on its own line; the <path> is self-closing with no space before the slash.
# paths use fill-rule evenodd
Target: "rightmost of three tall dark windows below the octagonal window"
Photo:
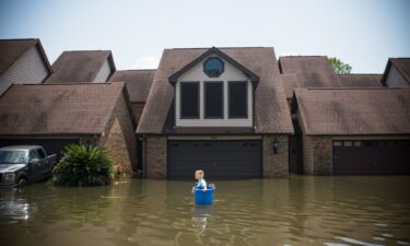
<path id="1" fill-rule="evenodd" d="M 247 118 L 247 83 L 231 82 L 230 91 L 230 118 Z"/>

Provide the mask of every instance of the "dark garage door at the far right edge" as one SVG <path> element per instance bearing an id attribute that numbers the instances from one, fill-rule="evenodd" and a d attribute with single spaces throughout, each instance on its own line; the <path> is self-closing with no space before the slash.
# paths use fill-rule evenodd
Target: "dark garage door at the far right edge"
<path id="1" fill-rule="evenodd" d="M 333 141 L 335 175 L 410 174 L 410 141 Z"/>

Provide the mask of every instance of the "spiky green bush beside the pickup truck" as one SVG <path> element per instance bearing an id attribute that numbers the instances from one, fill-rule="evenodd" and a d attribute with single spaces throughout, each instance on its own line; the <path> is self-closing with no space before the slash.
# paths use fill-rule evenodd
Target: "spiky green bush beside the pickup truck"
<path id="1" fill-rule="evenodd" d="M 99 147 L 69 144 L 52 169 L 52 183 L 58 186 L 108 185 L 113 176 L 113 161 Z"/>

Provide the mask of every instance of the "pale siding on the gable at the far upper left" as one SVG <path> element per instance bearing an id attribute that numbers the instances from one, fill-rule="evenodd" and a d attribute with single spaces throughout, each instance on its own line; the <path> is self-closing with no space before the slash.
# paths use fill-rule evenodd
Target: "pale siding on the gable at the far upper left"
<path id="1" fill-rule="evenodd" d="M 42 83 L 48 70 L 36 46 L 31 47 L 0 77 L 0 95 L 13 83 Z"/>

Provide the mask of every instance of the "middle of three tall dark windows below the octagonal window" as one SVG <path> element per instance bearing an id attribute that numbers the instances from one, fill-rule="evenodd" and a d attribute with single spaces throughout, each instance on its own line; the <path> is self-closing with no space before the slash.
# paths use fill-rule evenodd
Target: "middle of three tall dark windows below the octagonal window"
<path id="1" fill-rule="evenodd" d="M 204 83 L 206 117 L 223 118 L 223 84 L 221 82 Z"/>

